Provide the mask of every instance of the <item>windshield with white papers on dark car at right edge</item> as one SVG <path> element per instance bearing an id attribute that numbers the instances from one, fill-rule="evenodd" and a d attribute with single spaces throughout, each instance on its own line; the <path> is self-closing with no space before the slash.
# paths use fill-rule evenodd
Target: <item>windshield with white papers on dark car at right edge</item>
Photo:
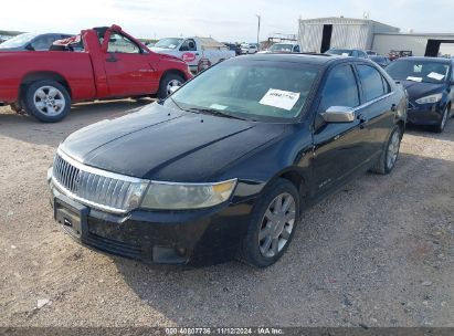
<path id="1" fill-rule="evenodd" d="M 388 65 L 387 72 L 398 81 L 443 83 L 448 78 L 450 65 L 442 62 L 402 60 Z"/>

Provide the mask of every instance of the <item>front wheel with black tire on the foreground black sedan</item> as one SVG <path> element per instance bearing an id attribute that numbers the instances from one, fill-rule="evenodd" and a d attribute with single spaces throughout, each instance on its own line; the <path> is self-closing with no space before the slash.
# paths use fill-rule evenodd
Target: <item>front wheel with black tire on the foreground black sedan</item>
<path id="1" fill-rule="evenodd" d="M 252 211 L 240 260 L 255 267 L 274 264 L 287 250 L 299 219 L 299 193 L 286 179 L 266 188 Z"/>

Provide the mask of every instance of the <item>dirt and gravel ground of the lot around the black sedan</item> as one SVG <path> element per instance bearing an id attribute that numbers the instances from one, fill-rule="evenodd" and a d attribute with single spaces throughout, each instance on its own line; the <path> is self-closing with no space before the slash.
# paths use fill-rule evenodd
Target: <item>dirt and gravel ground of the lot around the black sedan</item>
<path id="1" fill-rule="evenodd" d="M 409 130 L 392 175 L 307 211 L 276 265 L 181 270 L 92 252 L 52 219 L 59 143 L 140 104 L 54 125 L 0 108 L 0 326 L 454 326 L 454 119 Z"/>

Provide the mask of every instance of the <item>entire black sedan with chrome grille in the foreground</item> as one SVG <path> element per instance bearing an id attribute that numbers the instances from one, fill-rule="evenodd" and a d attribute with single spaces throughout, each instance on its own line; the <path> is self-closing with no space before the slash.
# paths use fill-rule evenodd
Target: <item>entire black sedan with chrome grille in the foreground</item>
<path id="1" fill-rule="evenodd" d="M 70 135 L 47 176 L 54 217 L 78 242 L 135 260 L 268 266 L 307 207 L 393 169 L 405 113 L 403 88 L 368 60 L 231 59 Z"/>

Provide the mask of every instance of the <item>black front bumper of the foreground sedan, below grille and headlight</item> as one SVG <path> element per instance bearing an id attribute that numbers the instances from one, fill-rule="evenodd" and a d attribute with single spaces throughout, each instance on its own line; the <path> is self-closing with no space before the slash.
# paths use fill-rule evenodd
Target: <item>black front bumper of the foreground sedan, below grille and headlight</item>
<path id="1" fill-rule="evenodd" d="M 252 201 L 193 211 L 116 216 L 91 209 L 49 181 L 54 217 L 81 244 L 151 264 L 209 265 L 232 260 L 245 235 Z"/>

